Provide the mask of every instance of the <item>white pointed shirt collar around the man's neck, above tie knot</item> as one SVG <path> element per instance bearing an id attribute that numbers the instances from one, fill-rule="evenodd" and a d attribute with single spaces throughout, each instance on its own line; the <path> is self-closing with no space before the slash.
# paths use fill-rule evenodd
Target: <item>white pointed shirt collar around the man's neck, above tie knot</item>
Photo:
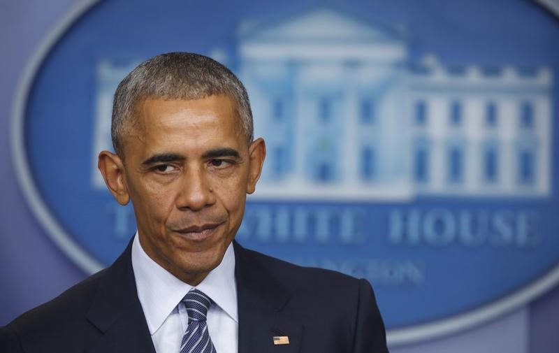
<path id="1" fill-rule="evenodd" d="M 154 334 L 193 287 L 153 261 L 140 245 L 138 232 L 132 243 L 132 268 L 147 327 Z M 222 262 L 196 286 L 238 322 L 235 254 L 229 244 Z"/>

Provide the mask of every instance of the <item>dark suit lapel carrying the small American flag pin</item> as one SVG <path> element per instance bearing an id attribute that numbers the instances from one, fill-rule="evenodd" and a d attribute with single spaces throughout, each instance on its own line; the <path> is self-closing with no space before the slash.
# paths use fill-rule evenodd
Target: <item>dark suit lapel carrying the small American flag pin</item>
<path id="1" fill-rule="evenodd" d="M 250 252 L 236 242 L 233 246 L 239 312 L 238 352 L 299 352 L 303 325 L 283 312 L 291 293 Z M 289 344 L 274 345 L 274 336 L 288 337 Z"/>

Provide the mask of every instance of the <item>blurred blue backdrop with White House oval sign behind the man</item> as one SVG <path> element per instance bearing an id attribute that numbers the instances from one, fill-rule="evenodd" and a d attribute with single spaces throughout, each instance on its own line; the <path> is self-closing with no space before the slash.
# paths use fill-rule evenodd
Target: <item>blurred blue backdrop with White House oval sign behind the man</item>
<path id="1" fill-rule="evenodd" d="M 557 350 L 551 13 L 521 1 L 70 3 L 45 18 L 3 5 L 17 48 L 2 86 L 15 167 L 1 174 L 3 322 L 122 251 L 131 209 L 94 168 L 110 147 L 107 102 L 134 64 L 188 50 L 240 75 L 268 141 L 243 244 L 368 278 L 402 352 L 434 338 L 433 352 Z M 66 27 L 45 37 L 56 21 Z M 489 332 L 514 340 L 479 340 Z"/>

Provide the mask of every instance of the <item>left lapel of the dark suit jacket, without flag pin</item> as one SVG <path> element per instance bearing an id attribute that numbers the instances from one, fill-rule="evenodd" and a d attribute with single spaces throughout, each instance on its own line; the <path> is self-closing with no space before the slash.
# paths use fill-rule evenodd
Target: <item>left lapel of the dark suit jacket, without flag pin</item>
<path id="1" fill-rule="evenodd" d="M 103 275 L 87 313 L 89 322 L 103 333 L 89 353 L 155 353 L 136 291 L 131 245 Z"/>

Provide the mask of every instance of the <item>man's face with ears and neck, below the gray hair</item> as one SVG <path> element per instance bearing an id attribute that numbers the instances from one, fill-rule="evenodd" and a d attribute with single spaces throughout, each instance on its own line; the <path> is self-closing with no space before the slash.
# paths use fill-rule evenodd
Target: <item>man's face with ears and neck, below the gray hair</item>
<path id="1" fill-rule="evenodd" d="M 237 233 L 246 194 L 254 192 L 261 172 L 263 141 L 247 145 L 234 103 L 224 95 L 146 99 L 135 120 L 124 161 L 112 155 L 122 163 L 124 192 L 109 187 L 120 203 L 131 199 L 145 252 L 196 285 L 222 261 Z M 99 165 L 103 172 L 101 157 Z"/>

